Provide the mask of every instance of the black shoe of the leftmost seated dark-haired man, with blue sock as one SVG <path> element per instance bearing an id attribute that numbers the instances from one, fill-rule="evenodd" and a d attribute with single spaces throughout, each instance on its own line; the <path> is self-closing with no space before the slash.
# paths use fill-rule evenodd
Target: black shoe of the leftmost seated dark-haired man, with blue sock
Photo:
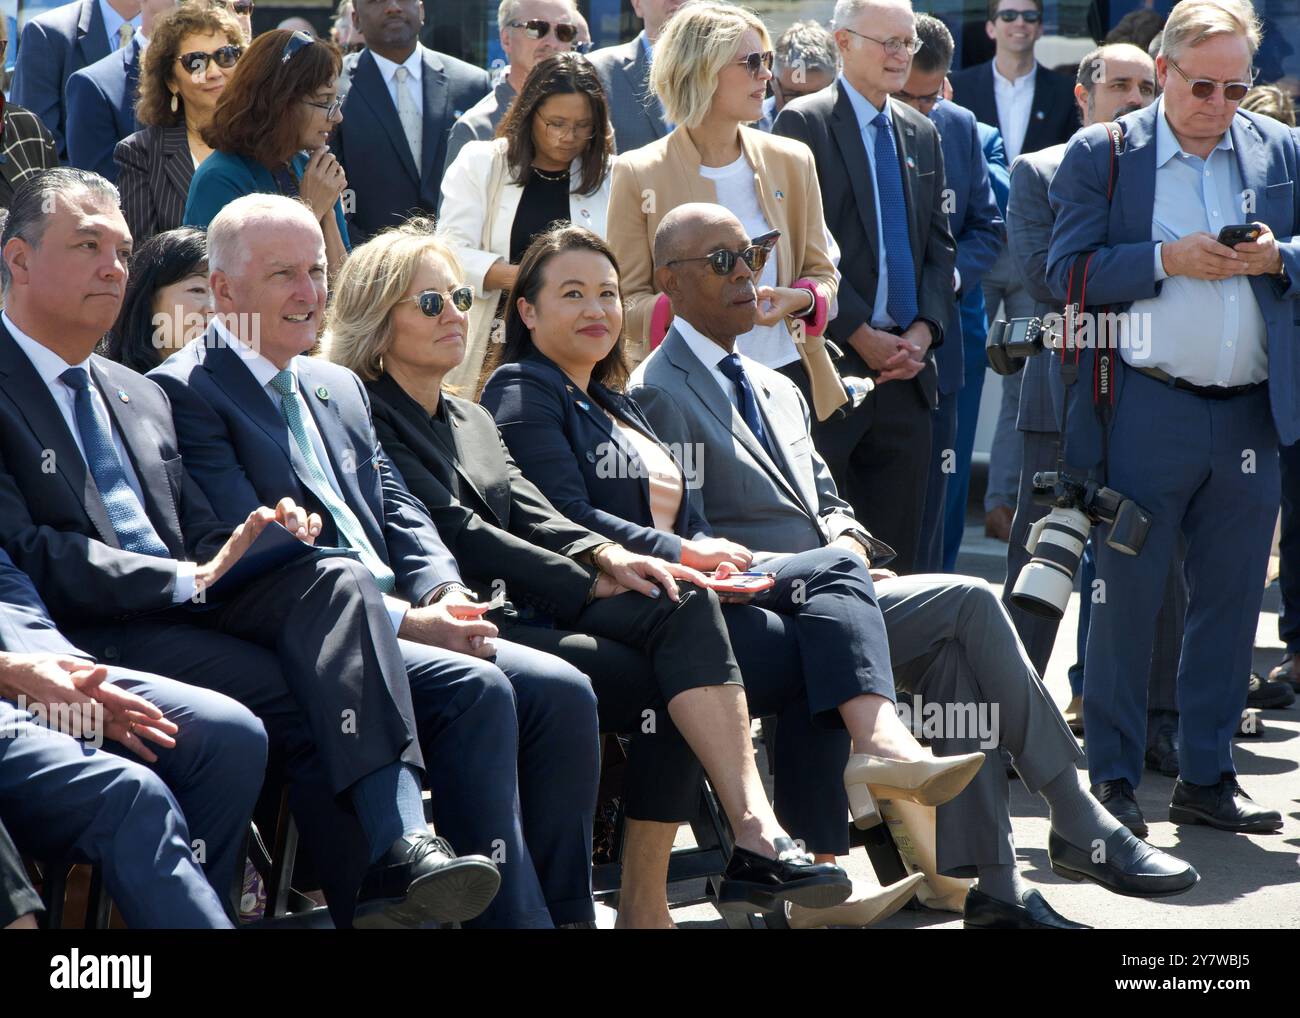
<path id="1" fill-rule="evenodd" d="M 433 835 L 404 835 L 372 863 L 356 894 L 352 926 L 363 930 L 460 923 L 486 909 L 500 874 L 482 855 L 456 855 Z"/>

